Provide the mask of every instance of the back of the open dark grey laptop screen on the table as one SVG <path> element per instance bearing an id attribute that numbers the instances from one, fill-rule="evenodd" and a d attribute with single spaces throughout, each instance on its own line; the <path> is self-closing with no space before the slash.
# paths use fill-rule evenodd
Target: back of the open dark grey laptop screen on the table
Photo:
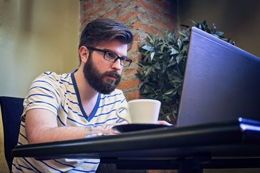
<path id="1" fill-rule="evenodd" d="M 177 127 L 260 120 L 260 58 L 193 27 Z"/>

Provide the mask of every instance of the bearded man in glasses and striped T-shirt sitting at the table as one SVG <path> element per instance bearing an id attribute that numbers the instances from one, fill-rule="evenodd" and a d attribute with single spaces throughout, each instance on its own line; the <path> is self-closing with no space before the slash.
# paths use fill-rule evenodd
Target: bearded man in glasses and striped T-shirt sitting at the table
<path id="1" fill-rule="evenodd" d="M 80 37 L 78 70 L 57 75 L 46 72 L 31 84 L 24 100 L 18 145 L 85 138 L 114 133 L 96 125 L 121 123 L 116 108 L 126 106 L 116 89 L 133 36 L 112 19 L 91 21 Z M 95 172 L 98 159 L 14 158 L 12 172 Z"/>

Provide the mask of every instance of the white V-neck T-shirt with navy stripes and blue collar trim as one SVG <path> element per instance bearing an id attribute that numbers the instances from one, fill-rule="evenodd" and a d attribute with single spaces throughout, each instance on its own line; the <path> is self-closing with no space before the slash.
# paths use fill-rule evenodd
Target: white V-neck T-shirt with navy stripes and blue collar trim
<path id="1" fill-rule="evenodd" d="M 26 145 L 26 111 L 48 109 L 57 116 L 58 127 L 87 127 L 123 122 L 116 116 L 116 109 L 127 104 L 123 92 L 98 94 L 91 116 L 87 116 L 80 102 L 80 95 L 74 73 L 57 75 L 46 72 L 36 78 L 24 100 L 24 112 L 17 145 Z M 104 146 L 105 147 L 105 146 Z M 12 172 L 95 172 L 99 159 L 53 159 L 37 161 L 35 158 L 14 158 Z"/>

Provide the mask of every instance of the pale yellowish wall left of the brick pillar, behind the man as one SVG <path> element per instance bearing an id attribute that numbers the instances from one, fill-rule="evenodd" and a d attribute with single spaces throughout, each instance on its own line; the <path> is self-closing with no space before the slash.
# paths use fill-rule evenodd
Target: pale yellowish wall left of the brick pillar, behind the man
<path id="1" fill-rule="evenodd" d="M 79 1 L 0 0 L 0 95 L 25 97 L 44 71 L 78 68 Z"/>

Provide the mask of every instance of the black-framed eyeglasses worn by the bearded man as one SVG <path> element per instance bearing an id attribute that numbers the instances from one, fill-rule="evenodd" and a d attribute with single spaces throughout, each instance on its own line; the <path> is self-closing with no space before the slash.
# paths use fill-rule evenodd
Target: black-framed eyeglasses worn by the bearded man
<path id="1" fill-rule="evenodd" d="M 89 46 L 87 46 L 87 48 L 92 51 L 98 51 L 104 53 L 104 59 L 107 60 L 108 62 L 116 62 L 117 60 L 120 60 L 121 66 L 130 66 L 130 64 L 132 63 L 132 60 L 130 60 L 128 57 L 126 56 L 119 57 L 119 55 L 116 55 L 116 53 L 112 51 L 105 51 L 99 48 L 94 48 Z"/>

